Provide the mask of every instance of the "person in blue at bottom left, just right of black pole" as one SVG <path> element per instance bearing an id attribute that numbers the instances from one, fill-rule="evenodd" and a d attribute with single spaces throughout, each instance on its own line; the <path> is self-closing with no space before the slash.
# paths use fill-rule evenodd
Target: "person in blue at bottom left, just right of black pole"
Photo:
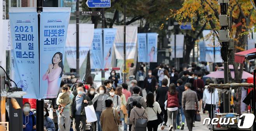
<path id="1" fill-rule="evenodd" d="M 44 107 L 44 131 L 55 131 L 55 125 L 51 118 L 47 107 Z"/>

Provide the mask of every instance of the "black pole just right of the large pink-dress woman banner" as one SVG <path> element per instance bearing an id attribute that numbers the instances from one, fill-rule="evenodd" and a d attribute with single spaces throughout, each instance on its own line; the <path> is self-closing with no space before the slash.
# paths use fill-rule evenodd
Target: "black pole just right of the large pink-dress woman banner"
<path id="1" fill-rule="evenodd" d="M 76 1 L 76 77 L 79 78 L 79 0 Z"/>

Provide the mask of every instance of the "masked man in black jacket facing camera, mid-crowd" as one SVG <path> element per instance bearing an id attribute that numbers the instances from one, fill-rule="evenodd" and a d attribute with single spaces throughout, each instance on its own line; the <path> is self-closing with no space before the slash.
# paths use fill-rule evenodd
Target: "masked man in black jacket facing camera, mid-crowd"
<path id="1" fill-rule="evenodd" d="M 152 75 L 152 71 L 148 71 L 148 76 L 144 80 L 144 88 L 147 93 L 153 92 L 156 90 L 156 77 Z"/>

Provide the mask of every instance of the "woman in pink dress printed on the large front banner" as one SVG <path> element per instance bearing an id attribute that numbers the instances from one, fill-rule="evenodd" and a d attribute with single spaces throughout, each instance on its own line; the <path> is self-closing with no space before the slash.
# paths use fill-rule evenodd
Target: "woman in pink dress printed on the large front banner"
<path id="1" fill-rule="evenodd" d="M 60 52 L 56 52 L 52 58 L 52 64 L 49 64 L 49 67 L 46 71 L 46 74 L 43 76 L 43 80 L 48 81 L 47 88 L 47 98 L 56 97 L 59 91 L 58 80 L 61 78 L 63 73 L 63 62 L 62 62 L 63 54 Z M 56 96 L 55 96 L 56 95 Z"/>

